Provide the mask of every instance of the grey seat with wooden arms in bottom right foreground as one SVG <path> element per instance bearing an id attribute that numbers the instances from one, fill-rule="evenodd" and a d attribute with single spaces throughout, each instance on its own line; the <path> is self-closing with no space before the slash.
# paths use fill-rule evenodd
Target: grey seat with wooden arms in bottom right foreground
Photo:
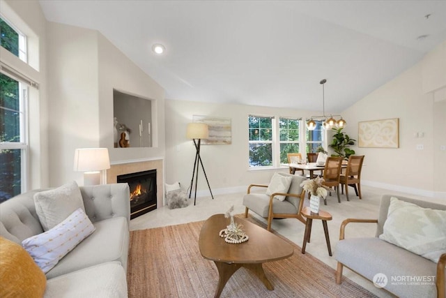
<path id="1" fill-rule="evenodd" d="M 335 250 L 335 258 L 338 261 L 337 283 L 341 283 L 342 269 L 346 266 L 370 281 L 374 281 L 378 288 L 384 288 L 398 297 L 445 298 L 446 251 L 441 255 L 438 263 L 435 263 L 378 238 L 380 234 L 383 234 L 392 197 L 423 208 L 446 210 L 446 205 L 443 204 L 399 195 L 383 195 L 378 219 L 346 219 L 341 224 L 339 243 Z M 376 223 L 376 236 L 344 239 L 348 223 Z"/>

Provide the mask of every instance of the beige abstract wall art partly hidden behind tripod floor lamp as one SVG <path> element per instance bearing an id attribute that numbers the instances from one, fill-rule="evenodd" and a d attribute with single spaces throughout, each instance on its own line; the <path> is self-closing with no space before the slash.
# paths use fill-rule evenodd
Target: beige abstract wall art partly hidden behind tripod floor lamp
<path id="1" fill-rule="evenodd" d="M 229 145 L 232 142 L 231 118 L 193 115 L 192 122 L 208 124 L 209 137 L 203 145 Z"/>

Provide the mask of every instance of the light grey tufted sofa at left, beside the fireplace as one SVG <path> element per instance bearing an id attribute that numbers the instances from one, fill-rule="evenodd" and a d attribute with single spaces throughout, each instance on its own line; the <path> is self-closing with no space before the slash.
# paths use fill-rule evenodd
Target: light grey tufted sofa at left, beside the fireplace
<path id="1" fill-rule="evenodd" d="M 29 191 L 0 204 L 0 235 L 21 244 L 43 233 Z M 81 186 L 95 231 L 46 274 L 45 297 L 128 297 L 130 191 L 128 184 Z"/>

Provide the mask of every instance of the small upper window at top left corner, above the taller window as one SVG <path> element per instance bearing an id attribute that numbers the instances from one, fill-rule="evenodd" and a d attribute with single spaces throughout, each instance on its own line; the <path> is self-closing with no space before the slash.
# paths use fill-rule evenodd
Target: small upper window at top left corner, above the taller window
<path id="1" fill-rule="evenodd" d="M 26 62 L 26 36 L 0 18 L 0 45 Z"/>

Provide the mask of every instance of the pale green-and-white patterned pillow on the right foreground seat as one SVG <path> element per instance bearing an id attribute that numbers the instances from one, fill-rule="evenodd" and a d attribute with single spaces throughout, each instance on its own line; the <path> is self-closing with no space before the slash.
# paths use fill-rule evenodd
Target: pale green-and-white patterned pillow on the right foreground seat
<path id="1" fill-rule="evenodd" d="M 446 253 L 446 210 L 422 208 L 390 198 L 383 230 L 380 239 L 433 262 Z"/>

